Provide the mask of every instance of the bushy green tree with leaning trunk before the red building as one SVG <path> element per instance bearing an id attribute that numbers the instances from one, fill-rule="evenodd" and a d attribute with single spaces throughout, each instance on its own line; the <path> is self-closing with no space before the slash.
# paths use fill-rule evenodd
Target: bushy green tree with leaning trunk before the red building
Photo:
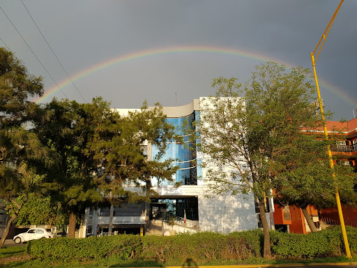
<path id="1" fill-rule="evenodd" d="M 317 232 L 307 206 L 335 207 L 335 187 L 339 189 L 342 203 L 356 206 L 354 184 L 357 178 L 352 168 L 340 165 L 335 166 L 333 178 L 326 146 L 335 140 L 333 137 L 323 140 L 312 131 L 298 133 L 301 137 L 292 140 L 291 146 L 280 154 L 278 161 L 282 165 L 275 170 L 274 188 L 280 203 L 300 207 L 310 230 Z"/>

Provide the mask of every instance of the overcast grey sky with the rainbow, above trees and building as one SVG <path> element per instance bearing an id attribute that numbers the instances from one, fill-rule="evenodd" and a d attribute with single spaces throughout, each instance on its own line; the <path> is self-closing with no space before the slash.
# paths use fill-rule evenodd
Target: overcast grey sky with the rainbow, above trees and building
<path id="1" fill-rule="evenodd" d="M 312 69 L 310 52 L 339 3 L 0 0 L 0 46 L 43 77 L 38 103 L 101 96 L 113 108 L 179 106 L 214 95 L 213 78 L 244 84 L 266 61 Z M 357 116 L 356 13 L 357 1 L 342 3 L 316 62 L 334 120 Z"/>

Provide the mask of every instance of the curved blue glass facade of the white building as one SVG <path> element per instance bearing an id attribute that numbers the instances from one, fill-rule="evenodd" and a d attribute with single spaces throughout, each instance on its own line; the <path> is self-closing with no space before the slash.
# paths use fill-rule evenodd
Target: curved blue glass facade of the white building
<path id="1" fill-rule="evenodd" d="M 170 142 L 161 160 L 174 159 L 173 165 L 179 165 L 180 168 L 174 175 L 174 180 L 183 185 L 197 185 L 197 177 L 202 177 L 202 168 L 199 165 L 197 166 L 200 160 L 197 160 L 196 141 L 192 140 L 192 135 L 187 135 L 183 128 L 183 126 L 190 126 L 192 129 L 192 122 L 198 117 L 199 112 L 193 112 L 187 117 L 166 119 L 169 124 L 175 127 L 176 134 L 183 137 L 184 144 L 178 144 L 174 141 Z M 153 146 L 152 157 L 154 158 L 156 154 L 158 154 L 158 149 Z M 173 183 L 162 183 L 162 185 L 167 184 Z"/>

